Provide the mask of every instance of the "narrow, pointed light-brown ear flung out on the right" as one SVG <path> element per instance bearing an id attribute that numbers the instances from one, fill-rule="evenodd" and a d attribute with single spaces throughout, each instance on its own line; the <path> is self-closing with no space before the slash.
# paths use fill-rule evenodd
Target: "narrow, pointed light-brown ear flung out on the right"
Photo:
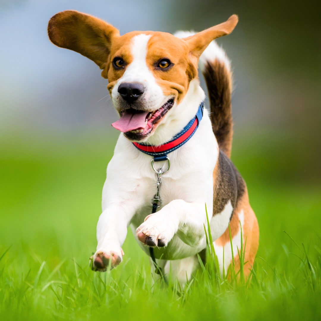
<path id="1" fill-rule="evenodd" d="M 198 59 L 212 40 L 230 34 L 238 21 L 238 16 L 233 14 L 226 22 L 183 39 L 186 40 L 192 55 Z"/>

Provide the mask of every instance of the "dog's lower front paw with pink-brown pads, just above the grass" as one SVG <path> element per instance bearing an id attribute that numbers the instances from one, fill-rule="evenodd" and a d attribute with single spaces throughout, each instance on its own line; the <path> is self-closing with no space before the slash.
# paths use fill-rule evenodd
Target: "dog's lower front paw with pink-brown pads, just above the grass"
<path id="1" fill-rule="evenodd" d="M 93 256 L 90 257 L 89 265 L 91 267 L 91 270 L 93 271 L 105 272 L 107 271 L 110 260 L 110 267 L 112 269 L 122 261 L 123 255 L 124 251 L 122 248 L 120 248 L 120 253 L 116 251 L 110 251 L 109 253 L 104 251 L 97 251 Z"/>

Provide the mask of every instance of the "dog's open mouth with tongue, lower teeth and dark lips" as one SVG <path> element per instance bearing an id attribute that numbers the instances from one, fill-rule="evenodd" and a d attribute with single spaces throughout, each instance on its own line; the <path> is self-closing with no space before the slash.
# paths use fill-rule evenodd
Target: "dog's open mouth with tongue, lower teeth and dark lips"
<path id="1" fill-rule="evenodd" d="M 152 132 L 154 126 L 166 115 L 173 105 L 174 98 L 171 98 L 159 109 L 152 112 L 134 108 L 125 109 L 121 112 L 120 119 L 111 125 L 125 133 L 129 139 L 141 140 Z"/>

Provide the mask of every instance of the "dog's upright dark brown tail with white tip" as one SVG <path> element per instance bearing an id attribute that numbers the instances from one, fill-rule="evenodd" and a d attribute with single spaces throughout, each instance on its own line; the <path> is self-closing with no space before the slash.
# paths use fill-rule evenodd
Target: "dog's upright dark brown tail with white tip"
<path id="1" fill-rule="evenodd" d="M 210 118 L 219 148 L 230 158 L 233 136 L 230 60 L 213 40 L 199 59 L 210 101 Z"/>

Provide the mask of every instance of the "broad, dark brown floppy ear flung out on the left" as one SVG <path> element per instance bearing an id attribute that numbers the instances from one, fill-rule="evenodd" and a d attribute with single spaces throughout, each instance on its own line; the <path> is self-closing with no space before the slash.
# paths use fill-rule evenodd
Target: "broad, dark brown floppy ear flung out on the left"
<path id="1" fill-rule="evenodd" d="M 103 69 L 110 54 L 112 39 L 119 37 L 119 31 L 88 14 L 66 10 L 50 19 L 48 35 L 58 47 L 79 52 Z"/>

